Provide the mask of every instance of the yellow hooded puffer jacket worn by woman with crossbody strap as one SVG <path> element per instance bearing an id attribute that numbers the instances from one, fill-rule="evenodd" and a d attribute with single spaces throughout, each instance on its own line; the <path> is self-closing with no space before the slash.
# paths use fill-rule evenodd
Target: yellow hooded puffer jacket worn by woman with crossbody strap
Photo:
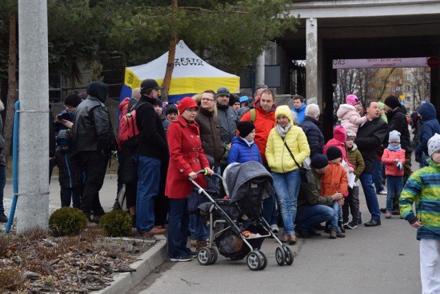
<path id="1" fill-rule="evenodd" d="M 285 115 L 286 117 L 289 117 L 292 127 L 286 134 L 285 142 L 292 151 L 296 162 L 301 165 L 301 163 L 303 163 L 303 161 L 310 155 L 307 137 L 305 136 L 302 128 L 294 126 L 294 122 L 292 121 L 292 113 L 289 109 L 289 106 L 278 106 L 275 111 L 275 117 L 278 117 L 278 115 Z M 272 172 L 291 172 L 292 170 L 298 168 L 294 159 L 292 159 L 292 156 L 290 156 L 289 150 L 287 150 L 286 146 L 284 145 L 283 137 L 276 132 L 276 128 L 272 128 L 272 131 L 270 131 L 269 137 L 267 138 L 265 155 L 267 164 Z"/>

